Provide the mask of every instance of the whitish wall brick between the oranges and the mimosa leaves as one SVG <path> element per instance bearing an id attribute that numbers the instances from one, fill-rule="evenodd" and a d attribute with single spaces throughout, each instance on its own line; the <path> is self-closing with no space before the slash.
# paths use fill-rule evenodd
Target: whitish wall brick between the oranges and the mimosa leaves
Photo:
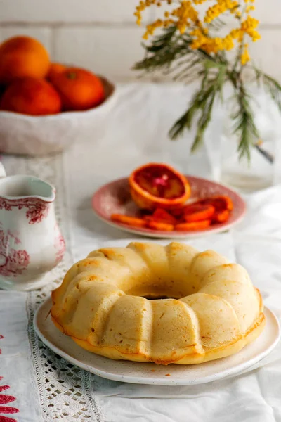
<path id="1" fill-rule="evenodd" d="M 142 34 L 140 27 L 60 27 L 55 30 L 53 57 L 122 79 L 143 55 Z"/>

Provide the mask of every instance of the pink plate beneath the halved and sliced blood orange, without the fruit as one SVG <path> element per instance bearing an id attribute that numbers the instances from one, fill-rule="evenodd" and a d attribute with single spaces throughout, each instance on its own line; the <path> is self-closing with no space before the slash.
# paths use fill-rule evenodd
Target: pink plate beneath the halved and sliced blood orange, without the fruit
<path id="1" fill-rule="evenodd" d="M 218 184 L 214 181 L 201 179 L 200 177 L 186 177 L 188 178 L 192 192 L 188 202 L 215 195 L 227 195 L 233 200 L 234 208 L 228 222 L 223 224 L 212 224 L 208 227 L 208 229 L 196 231 L 160 231 L 144 229 L 141 227 L 132 227 L 128 224 L 122 224 L 119 222 L 112 222 L 110 219 L 110 215 L 112 214 L 126 214 L 133 217 L 137 217 L 139 215 L 138 207 L 131 199 L 128 178 L 117 179 L 101 186 L 101 188 L 99 188 L 93 195 L 93 210 L 100 219 L 107 224 L 110 224 L 110 226 L 119 227 L 119 229 L 129 231 L 133 234 L 154 238 L 192 238 L 207 234 L 214 234 L 219 231 L 226 231 L 240 222 L 246 212 L 246 204 L 238 193 L 227 186 L 223 186 L 222 184 Z"/>

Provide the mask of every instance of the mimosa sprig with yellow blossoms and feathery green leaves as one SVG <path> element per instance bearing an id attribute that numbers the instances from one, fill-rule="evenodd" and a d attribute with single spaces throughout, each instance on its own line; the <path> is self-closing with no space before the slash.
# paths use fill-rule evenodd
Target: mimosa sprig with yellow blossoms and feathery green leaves
<path id="1" fill-rule="evenodd" d="M 141 24 L 143 11 L 150 6 L 171 5 L 163 18 L 147 25 L 143 38 L 145 58 L 134 69 L 154 72 L 162 70 L 173 74 L 176 81 L 186 83 L 200 79 L 200 87 L 192 96 L 188 109 L 176 121 L 169 134 L 177 139 L 192 123 L 197 124 L 192 151 L 204 139 L 204 132 L 211 120 L 215 101 L 223 101 L 223 87 L 230 83 L 234 89 L 233 132 L 239 137 L 237 149 L 240 158 L 250 159 L 251 146 L 259 139 L 259 131 L 251 109 L 251 95 L 245 83 L 245 70 L 251 70 L 256 84 L 263 87 L 281 111 L 281 86 L 269 75 L 251 64 L 249 42 L 258 41 L 259 21 L 251 17 L 254 0 L 213 0 L 200 18 L 202 4 L 209 0 L 171 1 L 144 0 L 136 8 L 136 20 Z M 174 6 L 174 7 L 173 7 Z M 233 16 L 233 27 L 226 32 L 223 18 Z M 226 32 L 219 36 L 221 32 Z M 159 32 L 155 35 L 155 31 Z M 234 51 L 235 54 L 229 53 Z"/>

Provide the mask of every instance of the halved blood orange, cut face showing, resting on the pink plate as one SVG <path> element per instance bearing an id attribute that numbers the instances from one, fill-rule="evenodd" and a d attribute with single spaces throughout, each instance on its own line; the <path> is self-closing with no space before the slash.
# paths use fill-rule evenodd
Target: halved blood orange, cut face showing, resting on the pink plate
<path id="1" fill-rule="evenodd" d="M 144 210 L 181 207 L 190 197 L 190 184 L 180 172 L 152 162 L 138 167 L 129 177 L 131 196 Z"/>

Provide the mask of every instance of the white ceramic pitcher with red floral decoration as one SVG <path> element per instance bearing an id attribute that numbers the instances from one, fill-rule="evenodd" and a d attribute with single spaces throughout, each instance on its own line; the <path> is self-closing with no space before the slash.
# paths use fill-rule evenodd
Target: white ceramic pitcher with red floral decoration
<path id="1" fill-rule="evenodd" d="M 65 252 L 55 220 L 55 188 L 37 177 L 6 177 L 0 162 L 0 288 L 33 290 L 48 282 Z"/>

